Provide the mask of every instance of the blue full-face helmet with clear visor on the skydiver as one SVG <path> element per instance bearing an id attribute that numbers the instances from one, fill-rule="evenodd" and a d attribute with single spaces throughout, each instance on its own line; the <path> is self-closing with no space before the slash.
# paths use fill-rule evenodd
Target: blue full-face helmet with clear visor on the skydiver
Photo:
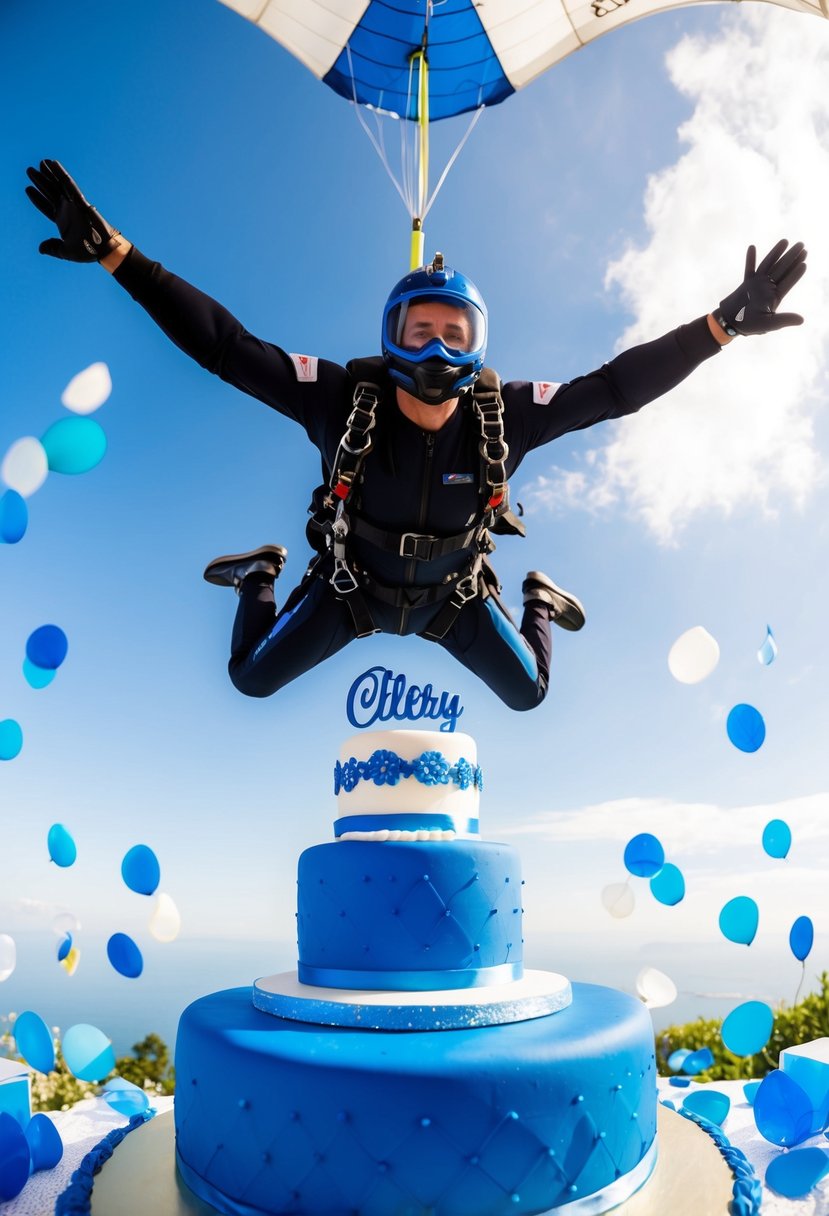
<path id="1" fill-rule="evenodd" d="M 410 309 L 428 303 L 449 305 L 458 315 L 449 314 L 449 323 L 435 336 L 429 336 L 434 326 L 425 325 L 418 345 Z M 382 349 L 391 379 L 419 401 L 441 405 L 457 396 L 475 383 L 486 355 L 486 305 L 480 292 L 436 253 L 432 265 L 411 271 L 391 289 L 383 310 Z"/>

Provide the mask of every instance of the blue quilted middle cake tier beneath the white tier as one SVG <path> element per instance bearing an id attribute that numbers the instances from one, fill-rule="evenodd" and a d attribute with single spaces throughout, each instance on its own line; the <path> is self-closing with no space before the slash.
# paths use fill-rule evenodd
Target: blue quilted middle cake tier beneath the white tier
<path id="1" fill-rule="evenodd" d="M 299 979 L 429 991 L 523 974 L 521 873 L 487 840 L 337 840 L 299 858 Z"/>

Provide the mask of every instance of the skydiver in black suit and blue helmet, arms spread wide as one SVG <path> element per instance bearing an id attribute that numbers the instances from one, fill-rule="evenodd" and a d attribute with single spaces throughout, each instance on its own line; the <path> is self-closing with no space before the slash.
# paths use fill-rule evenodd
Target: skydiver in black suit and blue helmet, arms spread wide
<path id="1" fill-rule="evenodd" d="M 580 630 L 585 612 L 538 570 L 523 582 L 520 629 L 501 603 L 490 531 L 523 530 L 508 510 L 508 478 L 534 447 L 635 413 L 738 334 L 802 323 L 777 311 L 806 271 L 802 243 L 779 241 L 760 265 L 751 246 L 744 281 L 707 316 L 568 384 L 500 385 L 484 368 L 485 304 L 436 254 L 393 288 L 383 358 L 340 367 L 253 337 L 126 241 L 57 161 L 27 173 L 29 199 L 60 232 L 40 253 L 100 263 L 186 354 L 299 422 L 320 450 L 325 483 L 309 524 L 317 556 L 281 612 L 282 546 L 215 558 L 204 572 L 238 595 L 229 671 L 249 697 L 269 697 L 382 631 L 439 642 L 512 709 L 541 704 L 551 621 Z"/>

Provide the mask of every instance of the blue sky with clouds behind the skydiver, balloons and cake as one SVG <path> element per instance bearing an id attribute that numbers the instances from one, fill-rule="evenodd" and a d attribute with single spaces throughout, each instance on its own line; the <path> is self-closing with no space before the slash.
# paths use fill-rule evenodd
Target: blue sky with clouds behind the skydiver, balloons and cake
<path id="1" fill-rule="evenodd" d="M 545 569 L 583 599 L 588 625 L 556 637 L 551 696 L 518 715 L 417 640 L 355 643 L 265 702 L 230 686 L 235 601 L 202 569 L 275 540 L 291 551 L 289 590 L 317 456 L 188 361 L 102 270 L 40 258 L 51 232 L 23 195 L 26 167 L 62 161 L 111 223 L 249 330 L 340 361 L 377 349 L 407 218 L 351 107 L 218 2 L 125 0 L 114 29 L 98 0 L 80 11 L 46 0 L 35 16 L 12 0 L 0 16 L 0 450 L 63 416 L 61 392 L 88 365 L 106 361 L 113 379 L 95 415 L 105 461 L 50 475 L 23 541 L 0 550 L 0 717 L 24 732 L 0 766 L 0 933 L 49 934 L 69 908 L 90 940 L 147 940 L 148 901 L 119 878 L 145 841 L 182 935 L 260 939 L 267 970 L 269 942 L 289 953 L 297 856 L 331 831 L 348 688 L 383 664 L 461 694 L 486 772 L 484 829 L 523 850 L 530 955 L 535 940 L 554 966 L 557 941 L 570 957 L 581 934 L 593 978 L 613 957 L 632 985 L 656 955 L 682 984 L 683 958 L 703 951 L 722 987 L 738 947 L 717 912 L 752 894 L 745 983 L 790 997 L 788 927 L 816 923 L 810 973 L 827 966 L 829 930 L 829 26 L 745 5 L 624 28 L 484 114 L 429 216 L 427 247 L 487 300 L 504 378 L 565 381 L 706 313 L 739 282 L 750 241 L 810 248 L 791 298 L 802 330 L 734 343 L 636 420 L 521 467 L 529 535 L 496 554 L 507 602 Z M 435 131 L 435 161 L 463 129 Z M 21 662 L 46 621 L 69 657 L 34 691 Z M 767 623 L 771 668 L 756 659 Z M 697 624 L 720 665 L 681 686 L 667 652 Z M 755 755 L 726 738 L 744 700 L 767 722 Z M 795 833 L 785 863 L 760 849 L 772 817 Z M 46 862 L 56 821 L 78 841 L 72 869 Z M 599 894 L 624 878 L 638 831 L 662 839 L 689 894 L 667 910 L 639 884 L 633 916 L 611 921 Z"/>

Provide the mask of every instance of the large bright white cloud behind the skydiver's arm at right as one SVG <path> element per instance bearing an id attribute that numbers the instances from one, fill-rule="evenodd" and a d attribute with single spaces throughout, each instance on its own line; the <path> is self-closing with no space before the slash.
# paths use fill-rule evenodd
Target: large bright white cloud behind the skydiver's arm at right
<path id="1" fill-rule="evenodd" d="M 738 286 L 745 248 L 802 240 L 810 270 L 783 310 L 806 325 L 735 339 L 667 398 L 615 424 L 581 467 L 521 489 L 528 510 L 624 503 L 662 544 L 705 511 L 801 507 L 824 475 L 814 421 L 829 402 L 829 24 L 740 7 L 669 56 L 694 102 L 686 151 L 649 181 L 649 241 L 607 275 L 633 322 L 620 349 L 707 313 Z"/>

